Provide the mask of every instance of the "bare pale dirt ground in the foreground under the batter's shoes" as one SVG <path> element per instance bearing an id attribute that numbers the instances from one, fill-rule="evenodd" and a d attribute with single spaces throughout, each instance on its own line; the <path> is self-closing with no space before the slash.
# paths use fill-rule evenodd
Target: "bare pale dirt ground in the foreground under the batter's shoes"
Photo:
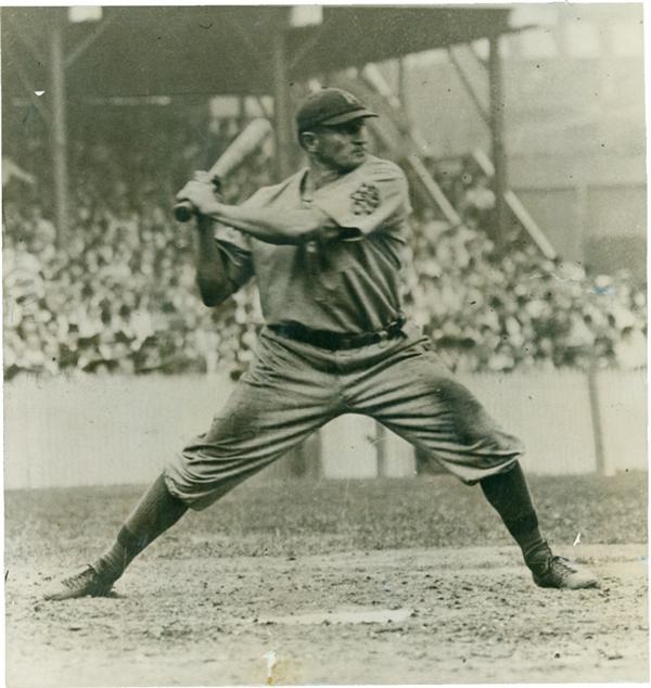
<path id="1" fill-rule="evenodd" d="M 576 593 L 533 586 L 514 548 L 143 556 L 116 597 L 59 603 L 38 600 L 42 570 L 11 562 L 7 685 L 644 681 L 644 555 L 582 549 L 604 581 Z"/>

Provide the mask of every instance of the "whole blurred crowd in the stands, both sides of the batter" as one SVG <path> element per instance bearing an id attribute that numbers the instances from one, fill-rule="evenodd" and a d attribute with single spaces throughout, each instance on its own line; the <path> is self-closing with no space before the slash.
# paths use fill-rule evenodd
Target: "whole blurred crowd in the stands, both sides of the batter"
<path id="1" fill-rule="evenodd" d="M 39 170 L 12 158 L 18 171 L 3 179 L 7 378 L 22 371 L 214 372 L 225 365 L 237 374 L 245 367 L 260 324 L 255 286 L 220 307 L 203 306 L 192 233 L 170 219 L 174 191 L 240 126 L 212 123 L 203 148 L 180 127 L 153 131 L 144 148 L 129 137 L 74 144 L 63 242 Z M 205 150 L 210 157 L 197 165 Z M 255 154 L 227 184 L 227 199 L 243 200 L 268 183 L 270 164 L 268 150 Z M 586 275 L 578 264 L 547 260 L 522 237 L 498 255 L 486 179 L 461 170 L 446 183 L 463 226 L 418 208 L 406 296 L 451 368 L 646 365 L 641 285 L 624 272 Z"/>

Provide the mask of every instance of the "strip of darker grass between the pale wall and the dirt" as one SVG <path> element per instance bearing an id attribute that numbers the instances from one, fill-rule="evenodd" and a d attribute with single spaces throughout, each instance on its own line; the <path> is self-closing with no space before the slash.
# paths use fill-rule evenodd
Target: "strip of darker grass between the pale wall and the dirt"
<path id="1" fill-rule="evenodd" d="M 544 533 L 571 546 L 647 542 L 647 474 L 532 477 Z M 15 490 L 5 542 L 15 556 L 88 557 L 115 535 L 142 487 Z M 154 556 L 301 556 L 409 547 L 509 545 L 478 486 L 417 479 L 257 480 L 184 517 Z"/>

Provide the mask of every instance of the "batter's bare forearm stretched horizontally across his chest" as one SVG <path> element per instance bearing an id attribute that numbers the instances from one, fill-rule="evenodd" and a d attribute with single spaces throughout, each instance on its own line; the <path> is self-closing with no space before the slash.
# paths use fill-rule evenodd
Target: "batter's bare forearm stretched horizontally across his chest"
<path id="1" fill-rule="evenodd" d="M 316 209 L 272 211 L 215 203 L 208 215 L 271 244 L 299 244 L 323 230 L 326 214 Z"/>

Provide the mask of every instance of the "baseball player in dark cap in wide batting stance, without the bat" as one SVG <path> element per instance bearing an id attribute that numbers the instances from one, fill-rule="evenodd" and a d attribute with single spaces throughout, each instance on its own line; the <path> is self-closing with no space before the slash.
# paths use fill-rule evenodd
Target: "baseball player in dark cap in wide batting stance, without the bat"
<path id="1" fill-rule="evenodd" d="M 98 561 L 47 599 L 106 595 L 129 562 L 188 509 L 205 509 L 341 413 L 363 413 L 480 483 L 541 587 L 597 587 L 552 553 L 498 428 L 403 315 L 410 205 L 400 168 L 367 151 L 375 115 L 322 89 L 296 115 L 308 165 L 242 205 L 199 174 L 178 194 L 197 213 L 196 272 L 215 306 L 256 276 L 266 326 L 254 361 L 210 428 L 166 467 Z"/>

